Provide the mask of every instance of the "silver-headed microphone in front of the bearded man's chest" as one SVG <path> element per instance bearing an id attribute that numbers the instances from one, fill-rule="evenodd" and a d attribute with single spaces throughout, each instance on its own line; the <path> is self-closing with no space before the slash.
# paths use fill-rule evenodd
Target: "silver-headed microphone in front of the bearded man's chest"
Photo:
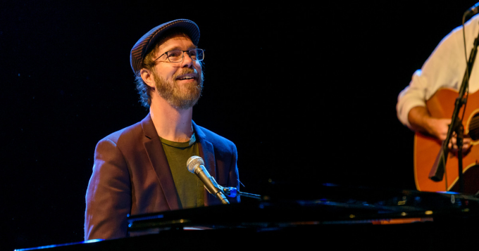
<path id="1" fill-rule="evenodd" d="M 188 161 L 186 162 L 188 167 L 188 171 L 197 174 L 198 178 L 203 182 L 204 187 L 206 190 L 215 195 L 218 200 L 220 200 L 223 204 L 230 204 L 228 199 L 226 199 L 225 195 L 223 194 L 223 187 L 216 183 L 215 179 L 209 175 L 208 171 L 204 167 L 204 161 L 199 156 L 192 156 L 189 157 Z"/>

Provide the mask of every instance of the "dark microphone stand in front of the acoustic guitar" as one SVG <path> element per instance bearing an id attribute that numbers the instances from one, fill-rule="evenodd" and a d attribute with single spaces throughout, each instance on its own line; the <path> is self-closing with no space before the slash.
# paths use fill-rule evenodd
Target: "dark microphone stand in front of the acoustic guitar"
<path id="1" fill-rule="evenodd" d="M 461 88 L 459 89 L 459 96 L 458 98 L 456 98 L 456 102 L 454 103 L 454 111 L 452 112 L 451 124 L 449 124 L 449 129 L 447 130 L 446 140 L 442 142 L 441 150 L 438 153 L 433 168 L 429 173 L 429 179 L 432 179 L 433 181 L 442 181 L 442 179 L 444 178 L 444 169 L 446 167 L 447 155 L 449 154 L 448 145 L 452 137 L 452 132 L 455 131 L 457 136 L 456 144 L 458 147 L 457 158 L 459 161 L 459 193 L 464 193 L 464 179 L 462 175 L 462 145 L 464 139 L 464 127 L 462 125 L 462 121 L 459 119 L 459 110 L 461 109 L 462 105 L 466 104 L 467 102 L 467 98 L 464 98 L 464 94 L 466 93 L 466 89 L 468 89 L 469 72 L 471 72 L 473 69 L 475 56 L 478 52 L 478 44 L 479 34 L 478 37 L 474 39 L 474 46 L 473 49 L 471 49 L 471 55 L 469 56 L 466 72 L 464 73 Z M 447 184 L 445 191 L 447 191 Z"/>

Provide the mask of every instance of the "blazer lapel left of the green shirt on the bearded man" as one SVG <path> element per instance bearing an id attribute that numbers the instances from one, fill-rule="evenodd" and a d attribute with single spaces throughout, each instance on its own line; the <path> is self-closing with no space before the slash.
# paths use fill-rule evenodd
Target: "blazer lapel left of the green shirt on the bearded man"
<path id="1" fill-rule="evenodd" d="M 143 139 L 143 145 L 145 150 L 147 150 L 151 166 L 158 177 L 161 190 L 165 195 L 168 206 L 170 207 L 170 210 L 178 210 L 180 209 L 180 203 L 178 202 L 173 175 L 171 174 L 165 151 L 161 145 L 160 137 L 158 136 L 158 133 L 156 133 L 155 126 L 149 114 L 142 120 L 142 128 L 145 136 Z"/>

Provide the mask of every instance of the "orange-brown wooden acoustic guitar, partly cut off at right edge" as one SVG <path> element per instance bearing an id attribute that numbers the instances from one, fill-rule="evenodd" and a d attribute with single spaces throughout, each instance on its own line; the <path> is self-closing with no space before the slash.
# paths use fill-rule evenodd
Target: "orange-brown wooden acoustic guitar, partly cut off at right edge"
<path id="1" fill-rule="evenodd" d="M 430 115 L 438 118 L 451 118 L 454 103 L 459 93 L 454 89 L 439 89 L 427 102 Z M 459 118 L 464 105 L 459 111 Z M 471 136 L 471 149 L 463 155 L 464 193 L 476 194 L 479 191 L 479 91 L 469 94 L 464 113 L 464 136 Z M 414 179 L 418 191 L 459 191 L 459 162 L 456 154 L 449 151 L 442 181 L 428 178 L 433 168 L 442 141 L 416 132 L 414 136 Z"/>

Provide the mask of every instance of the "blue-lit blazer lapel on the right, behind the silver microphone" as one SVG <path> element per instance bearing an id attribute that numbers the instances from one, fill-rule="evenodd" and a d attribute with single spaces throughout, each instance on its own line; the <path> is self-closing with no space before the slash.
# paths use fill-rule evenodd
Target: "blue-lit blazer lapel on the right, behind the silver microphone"
<path id="1" fill-rule="evenodd" d="M 204 167 L 209 172 L 209 174 L 216 180 L 216 161 L 215 161 L 215 152 L 213 148 L 213 144 L 206 139 L 206 135 L 203 131 L 193 122 L 194 132 L 199 138 L 199 155 L 204 160 Z M 204 196 L 204 205 L 213 205 L 217 203 L 218 199 L 216 199 L 213 195 L 208 193 L 205 189 L 205 196 Z"/>

